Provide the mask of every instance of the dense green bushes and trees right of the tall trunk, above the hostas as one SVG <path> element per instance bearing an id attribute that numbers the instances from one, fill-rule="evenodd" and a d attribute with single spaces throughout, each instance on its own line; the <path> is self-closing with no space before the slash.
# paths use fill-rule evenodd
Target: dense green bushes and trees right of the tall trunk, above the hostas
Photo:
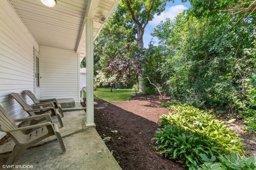
<path id="1" fill-rule="evenodd" d="M 159 45 L 146 50 L 145 76 L 172 98 L 223 109 L 255 130 L 256 3 L 190 3 L 189 10 L 154 29 Z M 156 94 L 147 81 L 145 86 Z"/>

